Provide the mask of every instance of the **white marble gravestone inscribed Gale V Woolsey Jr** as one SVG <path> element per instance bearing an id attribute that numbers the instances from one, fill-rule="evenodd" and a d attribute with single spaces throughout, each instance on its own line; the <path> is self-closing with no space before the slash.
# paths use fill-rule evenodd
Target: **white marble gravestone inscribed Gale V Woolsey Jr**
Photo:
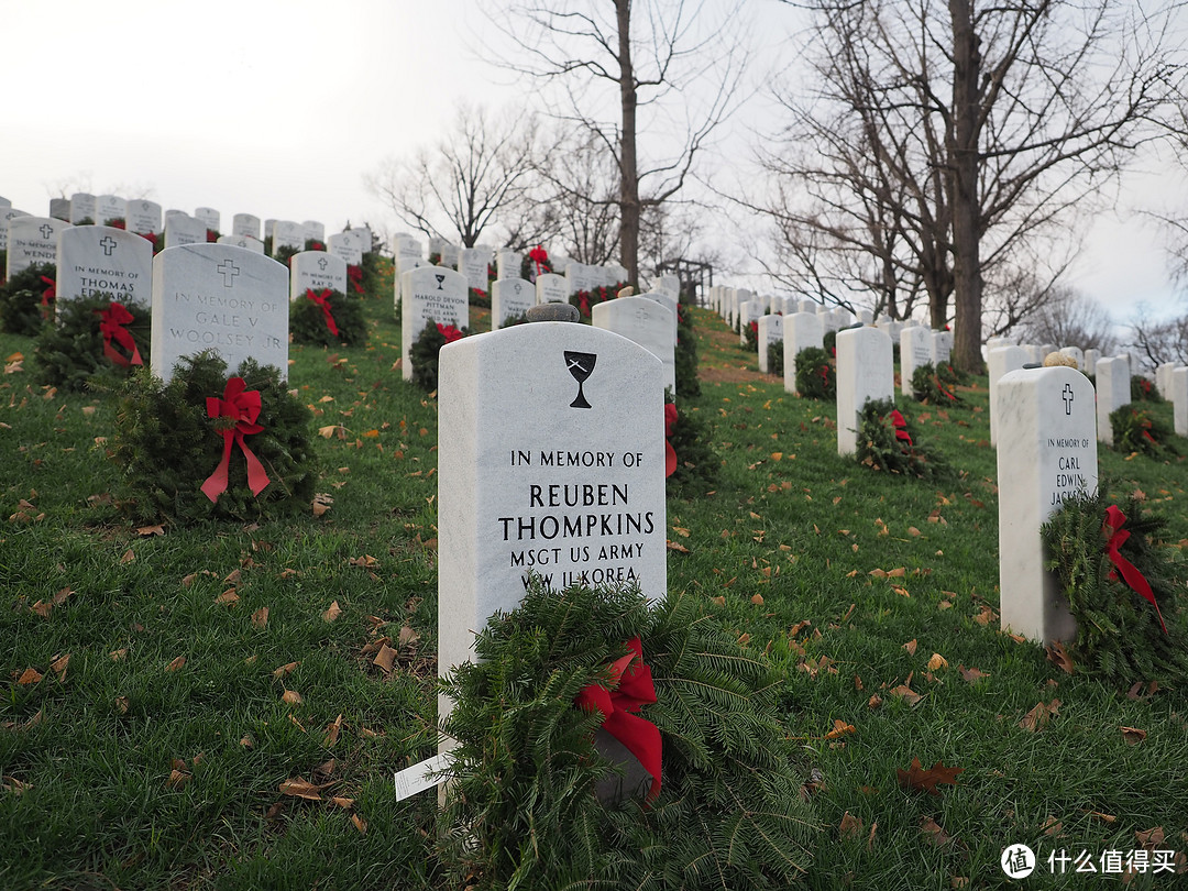
<path id="1" fill-rule="evenodd" d="M 289 377 L 289 270 L 217 244 L 183 245 L 152 261 L 152 373 L 165 381 L 182 356 L 219 353 L 234 374 L 251 356 Z"/>

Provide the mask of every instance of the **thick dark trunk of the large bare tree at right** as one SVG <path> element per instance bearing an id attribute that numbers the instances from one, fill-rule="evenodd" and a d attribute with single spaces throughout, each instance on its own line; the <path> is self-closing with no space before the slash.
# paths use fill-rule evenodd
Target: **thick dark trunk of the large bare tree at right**
<path id="1" fill-rule="evenodd" d="M 953 23 L 953 122 L 949 128 L 949 206 L 953 213 L 953 364 L 980 373 L 981 258 L 979 255 L 978 78 L 981 56 L 973 0 L 949 0 Z"/>

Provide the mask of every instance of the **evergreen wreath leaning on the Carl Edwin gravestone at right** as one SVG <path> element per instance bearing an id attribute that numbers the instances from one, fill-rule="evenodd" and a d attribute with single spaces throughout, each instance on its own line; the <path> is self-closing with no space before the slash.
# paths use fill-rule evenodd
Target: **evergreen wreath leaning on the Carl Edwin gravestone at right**
<path id="1" fill-rule="evenodd" d="M 1106 493 L 1102 482 L 1095 493 L 1074 494 L 1040 530 L 1044 567 L 1055 573 L 1076 619 L 1069 653 L 1078 670 L 1119 687 L 1137 681 L 1182 687 L 1188 681 L 1184 563 L 1161 546 L 1167 522 L 1144 512 L 1133 494 L 1117 503 L 1124 522 L 1107 525 L 1118 514 L 1107 513 Z M 1135 576 L 1114 561 L 1111 542 L 1145 579 L 1158 608 L 1127 583 Z"/>

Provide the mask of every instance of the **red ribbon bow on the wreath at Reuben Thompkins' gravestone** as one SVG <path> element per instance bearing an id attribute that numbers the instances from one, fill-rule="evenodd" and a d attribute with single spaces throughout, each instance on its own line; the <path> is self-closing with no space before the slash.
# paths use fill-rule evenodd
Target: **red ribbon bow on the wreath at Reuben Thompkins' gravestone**
<path id="1" fill-rule="evenodd" d="M 643 706 L 656 702 L 652 670 L 644 664 L 644 649 L 638 637 L 627 642 L 627 655 L 611 663 L 608 690 L 601 684 L 587 684 L 574 699 L 588 712 L 602 713 L 602 729 L 623 742 L 652 777 L 647 800 L 661 794 L 661 732 L 649 720 L 633 714 Z"/>

